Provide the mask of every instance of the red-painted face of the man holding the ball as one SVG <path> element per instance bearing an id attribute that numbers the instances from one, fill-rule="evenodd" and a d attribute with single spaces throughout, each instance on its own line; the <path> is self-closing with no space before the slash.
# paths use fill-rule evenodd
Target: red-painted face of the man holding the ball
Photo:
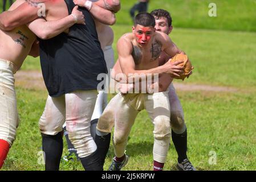
<path id="1" fill-rule="evenodd" d="M 149 40 L 152 38 L 152 28 L 142 27 L 138 28 L 135 31 L 135 36 L 137 37 L 137 42 L 141 44 L 141 46 L 145 46 Z"/>

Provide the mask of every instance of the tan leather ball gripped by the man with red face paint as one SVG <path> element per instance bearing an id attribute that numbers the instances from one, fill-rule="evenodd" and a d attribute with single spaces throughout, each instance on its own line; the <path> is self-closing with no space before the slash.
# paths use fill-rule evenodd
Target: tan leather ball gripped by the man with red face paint
<path id="1" fill-rule="evenodd" d="M 187 55 L 182 55 L 178 53 L 172 59 L 169 60 L 170 63 L 175 63 L 177 61 L 183 61 L 183 63 L 178 64 L 178 66 L 184 67 L 184 72 L 180 74 L 180 76 L 176 76 L 173 78 L 184 80 L 186 77 L 189 77 L 192 74 L 192 69 L 194 67 L 192 66 L 191 62 L 188 60 Z"/>

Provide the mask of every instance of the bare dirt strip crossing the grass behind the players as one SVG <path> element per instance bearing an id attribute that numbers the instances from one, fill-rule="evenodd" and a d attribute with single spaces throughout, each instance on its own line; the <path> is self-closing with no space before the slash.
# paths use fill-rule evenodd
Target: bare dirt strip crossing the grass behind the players
<path id="1" fill-rule="evenodd" d="M 18 71 L 15 74 L 15 85 L 26 89 L 46 90 L 42 72 L 40 71 Z M 211 86 L 198 84 L 183 84 L 174 82 L 176 90 L 181 91 L 205 91 L 205 92 L 237 92 L 239 89 L 226 86 Z"/>

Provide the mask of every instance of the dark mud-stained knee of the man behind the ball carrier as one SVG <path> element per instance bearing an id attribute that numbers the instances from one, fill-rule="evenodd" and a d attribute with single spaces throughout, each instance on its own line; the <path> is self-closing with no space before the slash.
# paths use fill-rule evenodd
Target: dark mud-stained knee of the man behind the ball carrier
<path id="1" fill-rule="evenodd" d="M 174 131 L 181 131 L 184 129 L 184 115 L 180 110 L 172 110 L 170 113 L 170 125 Z"/>

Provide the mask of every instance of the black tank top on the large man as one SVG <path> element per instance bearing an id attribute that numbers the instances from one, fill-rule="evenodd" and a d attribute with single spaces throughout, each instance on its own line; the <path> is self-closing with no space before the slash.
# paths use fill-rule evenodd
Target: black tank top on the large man
<path id="1" fill-rule="evenodd" d="M 64 0 L 68 14 L 75 4 Z M 40 64 L 46 88 L 51 97 L 75 90 L 97 89 L 97 75 L 107 73 L 104 54 L 97 37 L 94 19 L 84 8 L 86 25 L 75 24 L 68 34 L 40 40 Z"/>

